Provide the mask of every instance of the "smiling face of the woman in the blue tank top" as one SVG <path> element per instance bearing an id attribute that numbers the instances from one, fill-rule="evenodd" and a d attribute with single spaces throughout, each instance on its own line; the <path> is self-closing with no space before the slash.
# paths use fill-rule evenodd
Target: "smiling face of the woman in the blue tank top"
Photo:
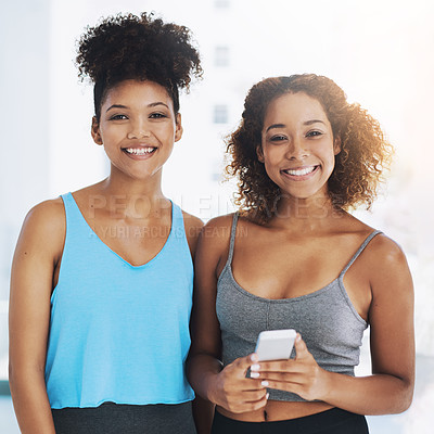
<path id="1" fill-rule="evenodd" d="M 125 80 L 107 91 L 92 137 L 104 145 L 112 175 L 161 176 L 174 142 L 182 136 L 180 115 L 166 89 L 154 81 Z"/>

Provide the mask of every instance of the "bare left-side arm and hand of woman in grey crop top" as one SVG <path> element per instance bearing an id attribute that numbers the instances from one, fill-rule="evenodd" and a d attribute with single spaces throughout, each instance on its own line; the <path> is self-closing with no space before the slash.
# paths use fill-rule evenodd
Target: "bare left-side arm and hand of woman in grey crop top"
<path id="1" fill-rule="evenodd" d="M 203 398 L 233 412 L 256 410 L 266 405 L 260 381 L 246 379 L 248 356 L 222 369 L 220 324 L 216 314 L 217 279 L 226 261 L 231 217 L 210 220 L 203 229 L 195 259 L 192 312 L 192 347 L 189 380 Z"/>

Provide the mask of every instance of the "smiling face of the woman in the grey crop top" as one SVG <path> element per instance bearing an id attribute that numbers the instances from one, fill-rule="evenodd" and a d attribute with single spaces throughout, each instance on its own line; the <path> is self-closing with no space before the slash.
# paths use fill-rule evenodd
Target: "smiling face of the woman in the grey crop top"
<path id="1" fill-rule="evenodd" d="M 327 182 L 341 151 L 321 106 L 306 93 L 286 93 L 267 108 L 258 158 L 283 194 L 327 196 Z"/>

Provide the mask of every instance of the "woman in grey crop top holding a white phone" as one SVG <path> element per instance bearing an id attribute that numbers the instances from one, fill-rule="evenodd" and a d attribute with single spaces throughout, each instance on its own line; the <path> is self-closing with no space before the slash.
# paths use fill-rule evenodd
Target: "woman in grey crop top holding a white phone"
<path id="1" fill-rule="evenodd" d="M 188 363 L 216 405 L 212 432 L 368 433 L 365 414 L 406 410 L 414 382 L 405 255 L 347 212 L 370 207 L 392 148 L 337 85 L 306 74 L 250 90 L 228 153 L 240 210 L 202 230 Z M 368 327 L 372 374 L 356 378 Z M 291 357 L 290 340 L 255 353 L 260 332 L 286 329 Z"/>

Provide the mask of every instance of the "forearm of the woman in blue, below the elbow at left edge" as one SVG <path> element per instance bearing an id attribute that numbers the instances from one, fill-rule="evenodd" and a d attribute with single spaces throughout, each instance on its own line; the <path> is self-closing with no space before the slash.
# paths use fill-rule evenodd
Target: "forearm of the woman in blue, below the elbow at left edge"
<path id="1" fill-rule="evenodd" d="M 11 395 L 23 434 L 55 434 L 43 374 L 10 373 Z"/>

